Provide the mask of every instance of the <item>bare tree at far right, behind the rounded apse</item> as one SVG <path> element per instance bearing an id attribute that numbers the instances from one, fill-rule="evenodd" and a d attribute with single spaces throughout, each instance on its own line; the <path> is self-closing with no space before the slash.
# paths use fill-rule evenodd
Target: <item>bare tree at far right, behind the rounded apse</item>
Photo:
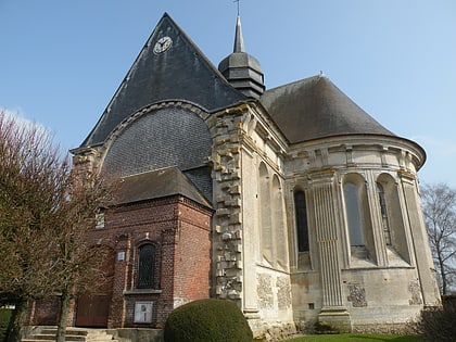
<path id="1" fill-rule="evenodd" d="M 443 295 L 456 286 L 456 190 L 446 183 L 425 185 L 425 220 Z"/>

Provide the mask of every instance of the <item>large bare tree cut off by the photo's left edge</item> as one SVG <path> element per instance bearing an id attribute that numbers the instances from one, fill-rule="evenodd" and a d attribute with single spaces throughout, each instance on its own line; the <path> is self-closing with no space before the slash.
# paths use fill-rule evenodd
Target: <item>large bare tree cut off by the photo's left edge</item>
<path id="1" fill-rule="evenodd" d="M 38 125 L 0 113 L 0 292 L 15 300 L 9 341 L 20 339 L 31 297 L 52 291 L 52 213 L 64 197 L 67 160 Z"/>

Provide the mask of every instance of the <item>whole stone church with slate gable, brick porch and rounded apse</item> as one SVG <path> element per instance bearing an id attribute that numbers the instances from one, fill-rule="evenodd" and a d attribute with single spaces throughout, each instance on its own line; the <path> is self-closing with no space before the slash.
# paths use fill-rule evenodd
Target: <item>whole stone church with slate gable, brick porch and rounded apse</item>
<path id="1" fill-rule="evenodd" d="M 78 297 L 75 326 L 162 328 L 216 297 L 255 335 L 389 330 L 439 303 L 423 149 L 321 74 L 266 89 L 239 17 L 216 67 L 165 13 L 72 153 L 122 178 L 91 236 L 112 282 Z"/>

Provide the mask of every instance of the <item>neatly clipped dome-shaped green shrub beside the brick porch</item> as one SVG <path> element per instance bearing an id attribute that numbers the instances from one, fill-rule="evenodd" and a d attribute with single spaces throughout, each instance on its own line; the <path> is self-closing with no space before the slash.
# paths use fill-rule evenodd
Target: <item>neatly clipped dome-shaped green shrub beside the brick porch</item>
<path id="1" fill-rule="evenodd" d="M 239 307 L 224 300 L 200 300 L 169 314 L 165 342 L 252 342 L 252 330 Z"/>

